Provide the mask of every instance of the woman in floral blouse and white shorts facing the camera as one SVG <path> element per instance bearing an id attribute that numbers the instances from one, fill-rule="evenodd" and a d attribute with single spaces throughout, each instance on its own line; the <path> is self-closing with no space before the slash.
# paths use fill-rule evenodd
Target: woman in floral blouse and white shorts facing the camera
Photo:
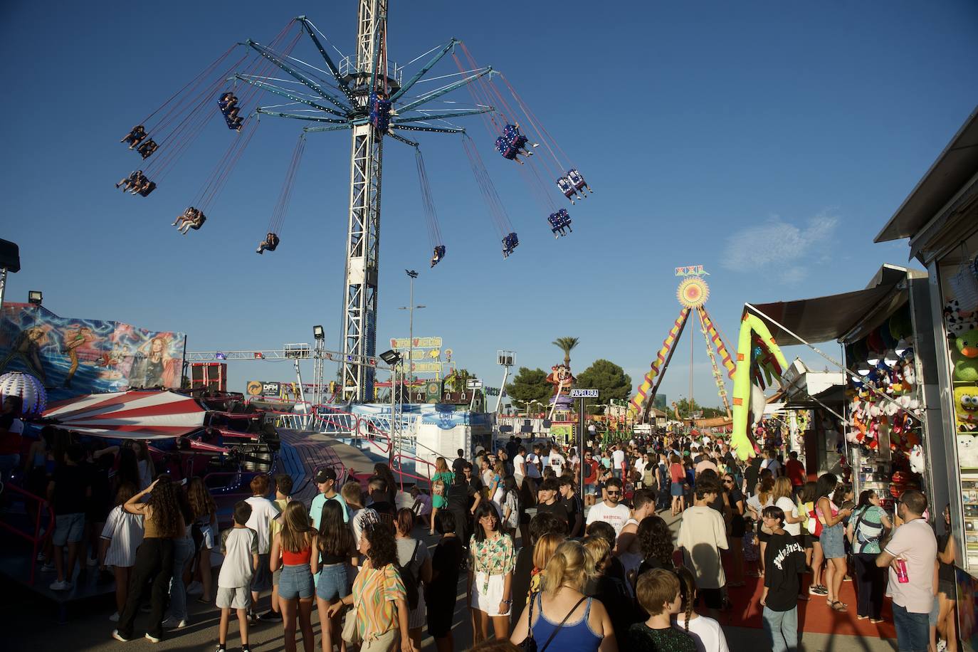
<path id="1" fill-rule="evenodd" d="M 490 502 L 475 508 L 475 534 L 468 542 L 468 608 L 472 610 L 473 645 L 489 637 L 489 620 L 497 639 L 510 637 L 512 569 L 516 552 L 510 535 L 499 528 Z"/>

